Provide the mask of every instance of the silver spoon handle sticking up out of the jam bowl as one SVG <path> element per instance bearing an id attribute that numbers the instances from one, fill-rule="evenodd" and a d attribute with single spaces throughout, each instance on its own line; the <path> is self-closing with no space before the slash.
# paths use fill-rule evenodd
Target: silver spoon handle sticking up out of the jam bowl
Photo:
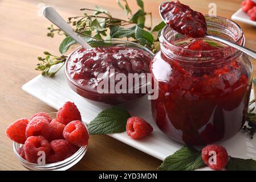
<path id="1" fill-rule="evenodd" d="M 60 16 L 57 11 L 50 6 L 47 6 L 43 9 L 43 15 L 50 20 L 53 24 L 59 27 L 61 30 L 66 32 L 72 39 L 78 42 L 85 49 L 92 48 L 83 38 L 81 38 L 73 28 Z"/>

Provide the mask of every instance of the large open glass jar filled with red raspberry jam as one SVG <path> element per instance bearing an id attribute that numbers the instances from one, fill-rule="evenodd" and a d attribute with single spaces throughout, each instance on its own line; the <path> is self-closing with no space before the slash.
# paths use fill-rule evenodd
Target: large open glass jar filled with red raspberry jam
<path id="1" fill-rule="evenodd" d="M 240 45 L 234 22 L 206 16 L 208 34 Z M 252 80 L 247 55 L 206 38 L 186 38 L 165 27 L 151 63 L 159 97 L 152 100 L 157 126 L 177 142 L 200 146 L 233 137 L 246 121 Z"/>

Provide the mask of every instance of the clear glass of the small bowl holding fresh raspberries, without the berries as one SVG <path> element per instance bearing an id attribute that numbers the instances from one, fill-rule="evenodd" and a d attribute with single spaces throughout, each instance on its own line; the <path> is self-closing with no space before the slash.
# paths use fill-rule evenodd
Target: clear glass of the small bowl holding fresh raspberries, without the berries
<path id="1" fill-rule="evenodd" d="M 56 113 L 48 113 L 52 119 L 56 118 Z M 84 126 L 86 126 L 84 124 Z M 86 126 L 87 129 L 87 126 Z M 22 144 L 13 142 L 13 151 L 19 162 L 24 166 L 26 169 L 29 169 L 31 171 L 66 171 L 67 169 L 70 169 L 71 167 L 75 166 L 83 157 L 86 155 L 87 152 L 87 146 L 80 147 L 78 151 L 75 152 L 75 154 L 71 155 L 69 158 L 57 162 L 57 163 L 50 163 L 50 164 L 34 164 L 30 163 L 27 160 L 23 159 L 21 155 L 19 155 L 19 148 L 22 147 Z M 47 157 L 46 157 L 47 160 Z"/>

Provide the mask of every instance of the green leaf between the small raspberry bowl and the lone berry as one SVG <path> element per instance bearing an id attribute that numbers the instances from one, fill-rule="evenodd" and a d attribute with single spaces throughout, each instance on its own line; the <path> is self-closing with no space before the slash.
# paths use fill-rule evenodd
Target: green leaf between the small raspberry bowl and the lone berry
<path id="1" fill-rule="evenodd" d="M 131 117 L 127 110 L 120 107 L 111 107 L 101 111 L 88 125 L 90 135 L 123 133 L 127 119 Z"/>

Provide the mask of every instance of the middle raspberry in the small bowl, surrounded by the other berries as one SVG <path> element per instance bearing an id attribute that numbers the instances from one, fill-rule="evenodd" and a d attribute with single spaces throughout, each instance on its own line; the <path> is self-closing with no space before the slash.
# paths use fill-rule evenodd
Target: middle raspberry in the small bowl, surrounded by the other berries
<path id="1" fill-rule="evenodd" d="M 52 119 L 50 123 L 50 137 L 49 140 L 64 139 L 63 130 L 66 125 L 60 123 L 57 119 Z"/>

